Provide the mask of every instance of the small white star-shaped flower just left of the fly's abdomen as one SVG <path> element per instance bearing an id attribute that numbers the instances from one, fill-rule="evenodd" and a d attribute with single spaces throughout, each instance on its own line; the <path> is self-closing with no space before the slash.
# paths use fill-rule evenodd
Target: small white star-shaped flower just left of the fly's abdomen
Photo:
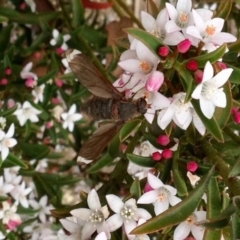
<path id="1" fill-rule="evenodd" d="M 82 114 L 75 113 L 77 110 L 76 104 L 73 104 L 67 113 L 62 113 L 61 117 L 64 120 L 63 128 L 68 128 L 70 132 L 73 131 L 74 122 L 80 120 L 82 118 Z"/>

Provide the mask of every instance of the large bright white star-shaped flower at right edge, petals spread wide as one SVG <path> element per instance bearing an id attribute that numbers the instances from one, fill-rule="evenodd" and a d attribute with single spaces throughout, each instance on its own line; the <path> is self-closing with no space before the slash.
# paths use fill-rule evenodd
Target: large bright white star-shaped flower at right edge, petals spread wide
<path id="1" fill-rule="evenodd" d="M 211 63 L 206 63 L 202 82 L 193 91 L 192 98 L 199 99 L 202 113 L 208 119 L 212 118 L 215 107 L 226 107 L 226 95 L 223 92 L 223 88 L 220 87 L 227 82 L 232 71 L 233 69 L 226 68 L 213 76 Z"/>

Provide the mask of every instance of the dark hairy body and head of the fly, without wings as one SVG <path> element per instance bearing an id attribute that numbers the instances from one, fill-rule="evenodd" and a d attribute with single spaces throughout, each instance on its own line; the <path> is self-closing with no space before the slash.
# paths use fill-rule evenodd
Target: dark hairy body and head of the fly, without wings
<path id="1" fill-rule="evenodd" d="M 129 120 L 146 113 L 147 103 L 140 98 L 136 101 L 92 98 L 82 108 L 82 111 L 96 120 L 114 119 Z"/>

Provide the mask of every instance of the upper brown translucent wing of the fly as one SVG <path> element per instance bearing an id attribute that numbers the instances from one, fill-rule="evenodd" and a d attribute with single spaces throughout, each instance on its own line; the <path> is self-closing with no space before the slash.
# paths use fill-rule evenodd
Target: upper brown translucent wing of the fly
<path id="1" fill-rule="evenodd" d="M 68 64 L 80 83 L 95 96 L 114 99 L 122 98 L 122 93 L 101 75 L 86 55 L 75 54 Z"/>

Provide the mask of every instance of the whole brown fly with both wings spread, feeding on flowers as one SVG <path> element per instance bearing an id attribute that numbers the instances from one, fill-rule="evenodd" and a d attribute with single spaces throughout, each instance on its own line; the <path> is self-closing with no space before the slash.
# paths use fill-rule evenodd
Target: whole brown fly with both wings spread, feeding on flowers
<path id="1" fill-rule="evenodd" d="M 82 111 L 95 120 L 114 120 L 99 127 L 83 144 L 79 155 L 85 159 L 94 160 L 121 129 L 125 121 L 146 113 L 147 102 L 144 98 L 136 101 L 124 99 L 124 93 L 114 88 L 84 54 L 71 56 L 68 52 L 67 55 L 70 58 L 69 66 L 76 78 L 94 95 L 82 107 Z"/>

